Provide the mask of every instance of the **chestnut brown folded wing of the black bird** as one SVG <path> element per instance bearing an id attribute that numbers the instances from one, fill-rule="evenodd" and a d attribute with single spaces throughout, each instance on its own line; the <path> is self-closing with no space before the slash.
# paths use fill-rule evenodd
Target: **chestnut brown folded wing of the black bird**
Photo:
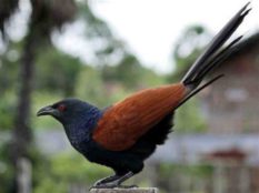
<path id="1" fill-rule="evenodd" d="M 183 84 L 148 89 L 108 109 L 93 131 L 93 140 L 110 151 L 123 151 L 173 110 L 186 95 Z"/>

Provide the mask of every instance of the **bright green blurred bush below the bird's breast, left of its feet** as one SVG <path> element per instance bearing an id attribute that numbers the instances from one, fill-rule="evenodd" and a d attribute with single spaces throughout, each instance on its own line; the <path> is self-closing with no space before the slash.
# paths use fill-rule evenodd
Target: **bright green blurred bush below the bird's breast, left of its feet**
<path id="1" fill-rule="evenodd" d="M 70 152 L 51 158 L 46 169 L 47 165 L 37 171 L 37 179 L 41 181 L 36 183 L 36 193 L 43 193 L 48 190 L 66 193 L 69 185 L 73 183 L 90 186 L 97 179 L 112 173 L 109 169 L 90 164 L 83 156 Z"/>

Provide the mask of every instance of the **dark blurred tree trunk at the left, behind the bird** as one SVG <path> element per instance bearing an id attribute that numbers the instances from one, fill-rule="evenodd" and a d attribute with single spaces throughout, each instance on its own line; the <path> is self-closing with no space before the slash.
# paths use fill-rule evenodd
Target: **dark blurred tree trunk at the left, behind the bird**
<path id="1" fill-rule="evenodd" d="M 32 133 L 30 129 L 30 104 L 31 104 L 31 91 L 32 80 L 34 71 L 34 58 L 36 58 L 36 40 L 33 35 L 26 38 L 23 53 L 21 55 L 21 74 L 20 74 L 20 87 L 18 93 L 18 108 L 14 123 L 14 130 L 12 133 L 12 150 L 11 156 L 14 166 L 14 192 L 24 186 L 21 184 L 19 176 L 23 175 L 23 170 L 20 170 L 19 162 L 23 158 L 29 158 L 29 146 L 32 141 Z"/>

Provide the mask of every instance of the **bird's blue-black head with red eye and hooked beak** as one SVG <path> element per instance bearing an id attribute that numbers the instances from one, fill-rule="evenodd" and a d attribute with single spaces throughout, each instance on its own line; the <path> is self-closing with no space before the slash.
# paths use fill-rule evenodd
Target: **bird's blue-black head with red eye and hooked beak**
<path id="1" fill-rule="evenodd" d="M 47 105 L 37 112 L 38 116 L 51 115 L 61 123 L 72 123 L 80 118 L 87 119 L 94 116 L 99 110 L 78 99 L 64 99 L 51 105 Z"/>

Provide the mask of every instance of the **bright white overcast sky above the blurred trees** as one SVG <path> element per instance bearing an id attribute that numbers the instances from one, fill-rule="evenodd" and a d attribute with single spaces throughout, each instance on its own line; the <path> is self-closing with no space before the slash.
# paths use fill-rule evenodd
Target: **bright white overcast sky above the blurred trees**
<path id="1" fill-rule="evenodd" d="M 172 50 L 182 31 L 202 24 L 212 33 L 247 0 L 89 0 L 93 12 L 108 22 L 140 61 L 158 72 L 172 70 Z M 251 1 L 252 11 L 237 34 L 248 37 L 259 30 L 259 1 Z"/>

